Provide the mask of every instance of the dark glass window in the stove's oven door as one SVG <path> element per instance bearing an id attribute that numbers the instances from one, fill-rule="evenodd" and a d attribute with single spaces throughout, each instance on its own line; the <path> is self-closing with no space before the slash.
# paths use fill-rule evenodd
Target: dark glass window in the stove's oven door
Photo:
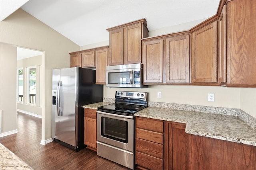
<path id="1" fill-rule="evenodd" d="M 116 141 L 128 143 L 128 122 L 102 117 L 101 135 Z"/>

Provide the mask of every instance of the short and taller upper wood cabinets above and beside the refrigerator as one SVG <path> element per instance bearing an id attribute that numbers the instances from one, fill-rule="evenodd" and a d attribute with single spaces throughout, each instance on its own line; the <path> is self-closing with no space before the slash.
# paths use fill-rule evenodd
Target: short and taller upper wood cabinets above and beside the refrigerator
<path id="1" fill-rule="evenodd" d="M 96 84 L 106 84 L 108 46 L 76 51 L 70 54 L 70 67 L 96 68 Z"/>

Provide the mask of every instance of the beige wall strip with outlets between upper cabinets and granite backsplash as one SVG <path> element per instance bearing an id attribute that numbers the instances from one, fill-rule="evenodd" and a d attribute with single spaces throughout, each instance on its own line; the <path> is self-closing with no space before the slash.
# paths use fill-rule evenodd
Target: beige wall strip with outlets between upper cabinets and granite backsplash
<path id="1" fill-rule="evenodd" d="M 104 97 L 115 98 L 116 90 L 148 92 L 150 102 L 240 108 L 240 88 L 162 85 L 138 89 L 104 86 Z M 162 92 L 162 98 L 157 98 L 157 92 Z M 208 93 L 214 93 L 214 102 L 208 102 Z"/>

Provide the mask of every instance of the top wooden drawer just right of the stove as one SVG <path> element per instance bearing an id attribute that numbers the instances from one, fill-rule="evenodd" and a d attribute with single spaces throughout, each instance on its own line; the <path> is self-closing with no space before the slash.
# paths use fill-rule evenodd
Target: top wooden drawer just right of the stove
<path id="1" fill-rule="evenodd" d="M 145 117 L 136 117 L 136 127 L 164 133 L 164 121 Z"/>

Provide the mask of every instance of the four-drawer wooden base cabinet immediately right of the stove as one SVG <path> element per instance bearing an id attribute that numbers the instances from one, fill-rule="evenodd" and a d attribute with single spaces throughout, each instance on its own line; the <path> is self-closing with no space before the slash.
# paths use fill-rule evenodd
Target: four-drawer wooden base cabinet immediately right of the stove
<path id="1" fill-rule="evenodd" d="M 136 117 L 135 163 L 138 168 L 163 169 L 164 121 Z"/>

